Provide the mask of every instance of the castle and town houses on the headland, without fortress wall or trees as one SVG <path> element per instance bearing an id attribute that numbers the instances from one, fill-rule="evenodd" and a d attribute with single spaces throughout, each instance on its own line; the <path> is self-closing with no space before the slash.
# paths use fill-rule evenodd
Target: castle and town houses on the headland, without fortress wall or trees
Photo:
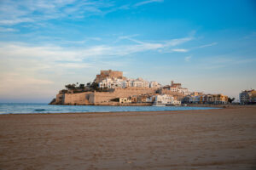
<path id="1" fill-rule="evenodd" d="M 224 94 L 191 93 L 188 88 L 182 88 L 181 83 L 171 82 L 171 85 L 161 86 L 158 82 L 148 82 L 143 78 L 130 79 L 123 77 L 122 71 L 101 71 L 96 76 L 98 88 L 156 88 L 158 94 L 139 94 L 119 98 L 120 104 L 152 103 L 153 105 L 181 105 L 183 104 L 213 104 L 228 103 L 228 96 Z"/>

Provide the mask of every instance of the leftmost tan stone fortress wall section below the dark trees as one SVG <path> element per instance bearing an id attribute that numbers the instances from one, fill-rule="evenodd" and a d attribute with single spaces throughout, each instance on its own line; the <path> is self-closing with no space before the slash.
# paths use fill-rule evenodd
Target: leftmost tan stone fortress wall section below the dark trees
<path id="1" fill-rule="evenodd" d="M 86 105 L 89 104 L 91 92 L 84 92 L 79 94 L 65 94 L 65 105 Z"/>

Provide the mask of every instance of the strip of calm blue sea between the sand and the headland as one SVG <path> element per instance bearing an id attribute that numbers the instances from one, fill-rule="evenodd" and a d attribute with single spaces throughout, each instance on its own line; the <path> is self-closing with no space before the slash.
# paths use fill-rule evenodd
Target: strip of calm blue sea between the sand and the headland
<path id="1" fill-rule="evenodd" d="M 0 114 L 113 112 L 113 111 L 185 111 L 208 110 L 209 107 L 187 106 L 100 106 L 100 105 L 47 105 L 47 104 L 0 104 Z"/>

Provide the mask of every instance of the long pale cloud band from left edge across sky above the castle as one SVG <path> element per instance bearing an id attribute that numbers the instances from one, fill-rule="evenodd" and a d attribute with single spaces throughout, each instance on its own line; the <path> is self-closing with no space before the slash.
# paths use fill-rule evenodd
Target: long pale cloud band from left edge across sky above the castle
<path id="1" fill-rule="evenodd" d="M 98 41 L 101 38 L 93 37 L 92 39 Z M 108 56 L 119 57 L 146 51 L 158 51 L 159 49 L 163 51 L 172 50 L 173 52 L 187 52 L 187 49 L 173 47 L 183 44 L 184 42 L 189 42 L 193 38 L 183 37 L 159 42 L 145 42 L 129 36 L 119 37 L 118 39 L 127 39 L 133 43 L 125 45 L 115 44 L 114 46 L 111 46 L 109 44 L 102 44 L 81 48 L 63 48 L 56 45 L 35 46 L 32 44 L 21 42 L 0 42 L 0 54 L 2 57 L 5 56 L 15 58 L 21 57 L 31 59 L 49 59 L 51 61 L 81 61 L 88 58 L 106 58 Z M 72 43 L 84 43 L 84 41 L 74 41 Z"/>

